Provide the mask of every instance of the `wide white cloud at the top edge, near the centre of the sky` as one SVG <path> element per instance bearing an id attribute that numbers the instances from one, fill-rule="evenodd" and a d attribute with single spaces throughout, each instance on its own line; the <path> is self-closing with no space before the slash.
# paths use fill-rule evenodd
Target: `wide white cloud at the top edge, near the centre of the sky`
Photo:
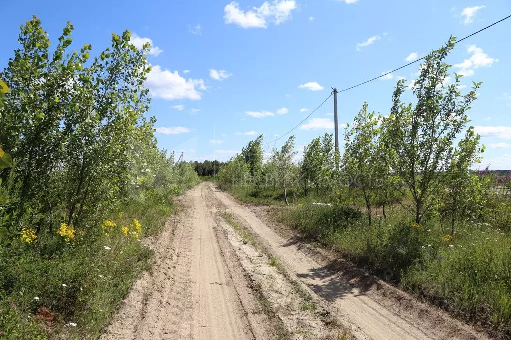
<path id="1" fill-rule="evenodd" d="M 267 28 L 267 21 L 278 25 L 291 19 L 291 11 L 296 9 L 293 0 L 275 0 L 272 3 L 265 2 L 261 7 L 243 11 L 240 5 L 233 1 L 224 8 L 225 23 L 234 23 L 244 29 Z"/>

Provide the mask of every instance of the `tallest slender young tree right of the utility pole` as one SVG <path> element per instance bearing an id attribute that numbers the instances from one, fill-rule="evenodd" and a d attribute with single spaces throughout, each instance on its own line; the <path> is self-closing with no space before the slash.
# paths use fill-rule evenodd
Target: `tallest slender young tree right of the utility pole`
<path id="1" fill-rule="evenodd" d="M 460 75 L 454 84 L 448 81 L 450 65 L 444 62 L 454 47 L 454 38 L 442 48 L 433 51 L 421 65 L 419 79 L 412 87 L 417 98 L 415 106 L 401 101 L 404 81 L 398 82 L 392 97 L 389 144 L 396 153 L 392 169 L 404 181 L 415 205 L 412 214 L 420 224 L 439 190 L 444 190 L 449 179 L 449 166 L 463 144 L 453 142 L 466 125 L 470 103 L 476 99 L 480 83 L 461 96 L 457 90 Z M 405 194 L 405 193 L 403 193 Z"/>

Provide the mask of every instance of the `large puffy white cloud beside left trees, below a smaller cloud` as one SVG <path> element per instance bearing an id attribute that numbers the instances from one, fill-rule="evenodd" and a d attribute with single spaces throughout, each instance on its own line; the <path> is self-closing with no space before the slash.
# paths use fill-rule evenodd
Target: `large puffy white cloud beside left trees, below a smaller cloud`
<path id="1" fill-rule="evenodd" d="M 159 65 L 152 67 L 147 75 L 146 85 L 154 97 L 167 100 L 200 99 L 200 92 L 197 90 L 206 89 L 202 79 L 186 80 L 178 71 L 163 70 Z"/>

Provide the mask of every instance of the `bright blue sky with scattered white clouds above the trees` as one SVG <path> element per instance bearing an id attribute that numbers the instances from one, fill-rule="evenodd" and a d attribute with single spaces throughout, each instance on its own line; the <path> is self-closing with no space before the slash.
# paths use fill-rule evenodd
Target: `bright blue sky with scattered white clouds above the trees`
<path id="1" fill-rule="evenodd" d="M 0 8 L 1 68 L 18 47 L 19 25 L 32 14 L 50 39 L 71 21 L 74 46 L 92 44 L 91 55 L 109 46 L 112 32 L 129 29 L 139 44 L 150 39 L 149 114 L 157 117 L 160 147 L 184 150 L 185 160 L 227 160 L 259 134 L 273 140 L 317 107 L 330 87 L 380 75 L 450 35 L 464 37 L 511 14 L 508 0 L 0 0 Z M 468 114 L 487 146 L 481 167 L 490 169 L 511 169 L 510 32 L 511 19 L 456 45 L 448 59 L 453 72 L 466 75 L 463 85 L 483 82 Z M 350 122 L 364 101 L 387 114 L 398 77 L 409 82 L 416 71 L 412 65 L 339 94 L 339 122 Z M 405 98 L 413 99 L 410 91 Z M 330 98 L 293 131 L 297 148 L 333 132 L 332 112 Z"/>

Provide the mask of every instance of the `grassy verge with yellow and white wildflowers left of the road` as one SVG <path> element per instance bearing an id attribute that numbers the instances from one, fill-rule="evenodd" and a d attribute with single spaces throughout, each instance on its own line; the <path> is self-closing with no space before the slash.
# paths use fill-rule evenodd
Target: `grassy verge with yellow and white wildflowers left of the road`
<path id="1" fill-rule="evenodd" d="M 175 211 L 165 194 L 153 194 L 122 206 L 104 230 L 90 228 L 72 242 L 41 234 L 34 244 L 18 239 L 1 246 L 0 337 L 99 337 L 150 266 L 153 252 L 140 239 L 156 234 Z"/>

